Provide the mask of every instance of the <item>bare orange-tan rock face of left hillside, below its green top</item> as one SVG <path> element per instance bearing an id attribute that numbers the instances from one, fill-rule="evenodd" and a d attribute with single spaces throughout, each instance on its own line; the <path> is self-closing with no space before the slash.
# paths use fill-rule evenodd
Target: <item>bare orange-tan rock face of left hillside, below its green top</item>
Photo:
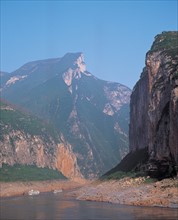
<path id="1" fill-rule="evenodd" d="M 57 169 L 69 179 L 83 178 L 69 144 L 46 142 L 40 136 L 26 137 L 21 131 L 12 131 L 3 138 L 3 142 L 0 141 L 0 167 L 3 163 L 36 165 Z"/>

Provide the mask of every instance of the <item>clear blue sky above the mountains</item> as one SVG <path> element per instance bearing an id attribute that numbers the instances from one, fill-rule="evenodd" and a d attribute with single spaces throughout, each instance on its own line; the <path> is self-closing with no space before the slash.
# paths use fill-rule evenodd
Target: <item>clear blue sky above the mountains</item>
<path id="1" fill-rule="evenodd" d="M 2 1 L 1 66 L 83 52 L 87 70 L 132 88 L 155 35 L 177 30 L 178 1 Z"/>

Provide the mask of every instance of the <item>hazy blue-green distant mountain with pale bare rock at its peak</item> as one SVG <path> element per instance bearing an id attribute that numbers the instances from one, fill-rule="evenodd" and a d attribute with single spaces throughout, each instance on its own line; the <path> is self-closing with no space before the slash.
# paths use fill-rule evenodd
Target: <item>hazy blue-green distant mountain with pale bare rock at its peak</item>
<path id="1" fill-rule="evenodd" d="M 60 130 L 85 177 L 101 175 L 127 154 L 131 90 L 93 76 L 82 53 L 30 62 L 7 75 L 3 98 Z"/>

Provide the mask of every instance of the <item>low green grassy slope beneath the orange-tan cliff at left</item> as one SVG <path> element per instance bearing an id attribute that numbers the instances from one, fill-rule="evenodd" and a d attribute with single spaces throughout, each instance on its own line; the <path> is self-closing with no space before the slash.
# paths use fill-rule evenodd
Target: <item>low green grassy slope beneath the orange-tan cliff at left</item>
<path id="1" fill-rule="evenodd" d="M 14 182 L 14 181 L 41 181 L 66 179 L 57 170 L 49 168 L 38 168 L 35 165 L 19 165 L 9 166 L 3 164 L 0 168 L 0 181 Z"/>

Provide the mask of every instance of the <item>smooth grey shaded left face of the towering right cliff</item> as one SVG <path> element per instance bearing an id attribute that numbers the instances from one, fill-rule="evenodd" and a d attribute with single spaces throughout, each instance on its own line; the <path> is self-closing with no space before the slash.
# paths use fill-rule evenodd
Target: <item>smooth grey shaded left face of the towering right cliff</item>
<path id="1" fill-rule="evenodd" d="M 130 151 L 148 145 L 148 74 L 146 68 L 137 82 L 130 100 Z"/>

